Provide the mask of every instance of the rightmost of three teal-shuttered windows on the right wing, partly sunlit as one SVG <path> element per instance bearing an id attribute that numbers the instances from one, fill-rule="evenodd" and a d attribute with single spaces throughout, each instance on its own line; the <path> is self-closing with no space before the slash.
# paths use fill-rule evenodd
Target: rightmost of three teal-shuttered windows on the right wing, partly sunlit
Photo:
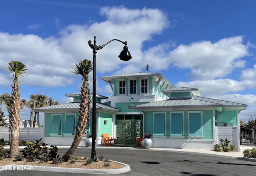
<path id="1" fill-rule="evenodd" d="M 189 112 L 188 136 L 202 136 L 202 112 Z"/>

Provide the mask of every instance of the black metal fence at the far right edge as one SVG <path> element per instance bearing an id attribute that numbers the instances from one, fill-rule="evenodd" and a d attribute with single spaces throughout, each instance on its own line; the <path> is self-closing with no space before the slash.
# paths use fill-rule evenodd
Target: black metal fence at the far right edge
<path id="1" fill-rule="evenodd" d="M 240 145 L 256 145 L 255 130 L 240 130 Z"/>

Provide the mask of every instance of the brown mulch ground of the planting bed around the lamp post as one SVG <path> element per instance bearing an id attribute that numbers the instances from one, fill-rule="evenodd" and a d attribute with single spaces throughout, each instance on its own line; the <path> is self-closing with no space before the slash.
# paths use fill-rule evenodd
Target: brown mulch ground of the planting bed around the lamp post
<path id="1" fill-rule="evenodd" d="M 0 160 L 0 166 L 6 166 L 10 164 L 17 165 L 30 165 L 30 166 L 48 166 L 48 167 L 62 167 L 62 168 L 83 168 L 83 169 L 119 169 L 123 168 L 125 165 L 117 162 L 108 162 L 109 165 L 106 166 L 106 162 L 104 160 L 98 160 L 98 162 L 92 162 L 91 164 L 87 164 L 87 161 L 84 159 L 72 160 L 72 164 L 70 162 L 62 162 L 60 164 L 54 165 L 52 161 L 41 162 L 36 160 L 34 162 L 23 161 L 14 161 L 11 158 L 4 158 Z"/>

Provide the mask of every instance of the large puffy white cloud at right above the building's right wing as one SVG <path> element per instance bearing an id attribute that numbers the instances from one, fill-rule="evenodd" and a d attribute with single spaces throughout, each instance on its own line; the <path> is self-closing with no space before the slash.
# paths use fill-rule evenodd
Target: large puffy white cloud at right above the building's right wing
<path id="1" fill-rule="evenodd" d="M 188 74 L 194 80 L 222 78 L 235 68 L 244 68 L 248 45 L 242 44 L 242 36 L 224 38 L 218 42 L 193 42 L 180 45 L 170 52 L 170 62 L 178 68 L 190 68 Z"/>

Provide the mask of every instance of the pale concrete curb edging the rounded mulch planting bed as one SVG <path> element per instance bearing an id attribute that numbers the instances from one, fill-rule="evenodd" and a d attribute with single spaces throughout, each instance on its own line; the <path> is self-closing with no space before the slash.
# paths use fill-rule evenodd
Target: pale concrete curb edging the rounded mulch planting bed
<path id="1" fill-rule="evenodd" d="M 117 162 L 117 161 L 112 161 Z M 122 162 L 117 162 L 124 164 Z M 48 166 L 31 166 L 31 165 L 18 165 L 10 164 L 6 166 L 1 166 L 0 171 L 2 170 L 37 170 L 37 171 L 49 171 L 49 172 L 68 172 L 68 173 L 81 173 L 81 174 L 122 174 L 129 172 L 131 170 L 128 164 L 120 169 L 81 169 L 81 168 L 59 168 L 59 167 L 48 167 Z"/>

